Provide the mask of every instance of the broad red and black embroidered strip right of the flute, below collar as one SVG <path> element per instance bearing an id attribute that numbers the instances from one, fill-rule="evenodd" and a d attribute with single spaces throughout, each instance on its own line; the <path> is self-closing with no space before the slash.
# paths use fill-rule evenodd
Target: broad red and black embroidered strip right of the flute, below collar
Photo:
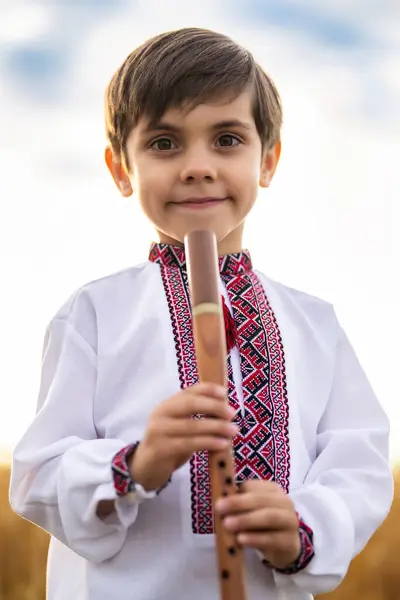
<path id="1" fill-rule="evenodd" d="M 244 397 L 244 416 L 236 419 L 237 479 L 274 480 L 287 492 L 289 409 L 279 328 L 253 271 L 222 278 L 237 324 Z"/>

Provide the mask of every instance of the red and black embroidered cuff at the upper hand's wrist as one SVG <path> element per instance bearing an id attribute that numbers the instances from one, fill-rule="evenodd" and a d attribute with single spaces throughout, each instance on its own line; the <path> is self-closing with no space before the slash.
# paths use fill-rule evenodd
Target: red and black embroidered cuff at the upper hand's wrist
<path id="1" fill-rule="evenodd" d="M 141 485 L 133 481 L 128 467 L 128 461 L 135 453 L 140 442 L 134 442 L 125 446 L 115 454 L 111 470 L 114 481 L 114 488 L 118 497 L 129 496 L 132 501 L 154 498 L 170 483 L 171 478 L 158 490 L 146 492 Z"/>

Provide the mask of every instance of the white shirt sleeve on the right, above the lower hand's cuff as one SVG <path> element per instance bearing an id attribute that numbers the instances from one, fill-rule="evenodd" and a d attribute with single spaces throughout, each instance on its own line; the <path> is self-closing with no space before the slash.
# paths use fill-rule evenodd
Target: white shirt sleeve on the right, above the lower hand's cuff
<path id="1" fill-rule="evenodd" d="M 317 431 L 317 458 L 290 495 L 313 532 L 314 556 L 279 587 L 327 593 L 386 518 L 393 499 L 389 423 L 340 330 L 331 395 Z"/>

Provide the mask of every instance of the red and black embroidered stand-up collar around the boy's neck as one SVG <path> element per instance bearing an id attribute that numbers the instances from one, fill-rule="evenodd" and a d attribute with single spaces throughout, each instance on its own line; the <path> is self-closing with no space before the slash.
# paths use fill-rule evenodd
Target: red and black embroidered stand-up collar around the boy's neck
<path id="1" fill-rule="evenodd" d="M 185 249 L 183 246 L 153 242 L 150 247 L 149 260 L 164 267 L 186 269 Z M 219 271 L 221 274 L 239 275 L 252 269 L 253 264 L 248 250 L 219 257 Z"/>

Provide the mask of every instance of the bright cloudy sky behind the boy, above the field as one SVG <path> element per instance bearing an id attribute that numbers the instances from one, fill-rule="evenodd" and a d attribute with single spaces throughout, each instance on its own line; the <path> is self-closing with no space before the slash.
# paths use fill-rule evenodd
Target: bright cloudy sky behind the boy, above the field
<path id="1" fill-rule="evenodd" d="M 0 450 L 34 416 L 54 313 L 147 257 L 152 229 L 104 166 L 103 94 L 135 46 L 184 26 L 232 36 L 278 86 L 282 158 L 245 242 L 335 305 L 400 459 L 397 0 L 0 0 Z"/>

